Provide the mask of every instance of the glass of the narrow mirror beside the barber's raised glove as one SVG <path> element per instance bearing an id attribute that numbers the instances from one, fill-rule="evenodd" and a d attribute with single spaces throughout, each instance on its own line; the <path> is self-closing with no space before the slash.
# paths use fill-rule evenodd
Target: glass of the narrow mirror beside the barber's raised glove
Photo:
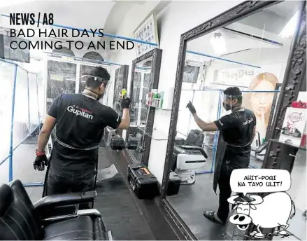
<path id="1" fill-rule="evenodd" d="M 134 66 L 133 78 L 131 78 L 131 114 L 129 127 L 129 152 L 141 163 L 144 149 L 144 130 L 148 121 L 149 105 L 146 102 L 153 80 L 152 57 L 148 57 Z"/>

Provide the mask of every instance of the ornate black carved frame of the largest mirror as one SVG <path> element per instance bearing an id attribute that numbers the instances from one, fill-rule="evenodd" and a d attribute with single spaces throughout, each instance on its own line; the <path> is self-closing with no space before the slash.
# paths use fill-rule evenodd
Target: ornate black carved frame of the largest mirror
<path id="1" fill-rule="evenodd" d="M 234 8 L 231 8 L 228 11 L 217 15 L 215 18 L 212 18 L 203 24 L 194 27 L 193 29 L 190 29 L 180 37 L 173 106 L 171 111 L 171 123 L 169 128 L 169 141 L 166 148 L 164 173 L 161 186 L 161 198 L 162 205 L 164 209 L 166 209 L 167 216 L 169 216 L 169 218 L 176 223 L 187 240 L 197 240 L 197 237 L 194 236 L 190 228 L 187 227 L 185 222 L 177 214 L 176 210 L 173 209 L 170 203 L 166 200 L 167 186 L 169 183 L 169 163 L 173 153 L 174 140 L 176 137 L 176 126 L 187 42 L 193 39 L 197 39 L 199 36 L 204 34 L 213 32 L 215 29 L 229 25 L 232 22 L 246 18 L 248 15 L 262 11 L 264 8 L 279 4 L 280 2 L 283 1 L 244 1 L 241 4 L 234 6 Z M 287 106 L 290 106 L 291 102 L 294 99 L 297 99 L 299 90 L 304 81 L 306 81 L 306 1 L 301 1 L 299 24 L 297 26 L 296 32 L 294 33 L 292 47 L 290 49 L 290 55 L 287 62 L 287 69 L 285 71 L 284 81 L 280 91 L 281 97 L 278 99 L 278 105 L 276 106 L 276 113 L 280 113 L 280 115 L 276 115 L 273 119 L 271 129 L 273 131 L 270 133 L 271 139 L 274 137 L 279 137 L 280 127 L 283 125 L 283 119 L 285 117 Z M 264 160 L 263 167 L 278 167 L 278 163 L 283 161 L 283 158 L 280 158 L 279 155 L 281 145 L 282 144 L 269 142 L 268 151 L 266 151 L 266 158 Z"/>

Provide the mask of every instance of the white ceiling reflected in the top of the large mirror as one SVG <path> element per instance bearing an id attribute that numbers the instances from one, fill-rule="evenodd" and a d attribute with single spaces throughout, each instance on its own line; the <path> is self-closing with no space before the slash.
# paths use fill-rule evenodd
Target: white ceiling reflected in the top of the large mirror
<path id="1" fill-rule="evenodd" d="M 268 58 L 273 60 L 273 57 L 276 62 L 284 60 L 289 54 L 292 37 L 282 38 L 278 34 L 280 34 L 294 13 L 296 13 L 300 3 L 298 1 L 284 1 L 226 26 L 228 29 L 258 36 L 259 39 L 231 32 L 227 29 L 219 29 L 225 39 L 227 48 L 227 52 L 222 55 L 215 53 L 210 43 L 214 32 L 188 42 L 187 50 L 215 57 L 223 57 L 227 60 L 244 62 L 245 64 L 259 64 L 266 62 Z M 262 39 L 268 39 L 269 41 Z M 278 46 L 270 41 L 276 41 L 283 46 Z M 278 59 L 278 57 L 281 59 Z M 203 61 L 210 60 L 208 57 L 191 58 L 198 58 Z"/>

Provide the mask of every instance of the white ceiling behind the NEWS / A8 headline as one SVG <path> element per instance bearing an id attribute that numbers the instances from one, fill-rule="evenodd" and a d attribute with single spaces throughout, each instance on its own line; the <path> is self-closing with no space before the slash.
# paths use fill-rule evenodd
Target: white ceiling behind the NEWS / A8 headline
<path id="1" fill-rule="evenodd" d="M 18 4 L 19 3 L 19 4 Z M 11 6 L 3 6 L 0 4 L 0 13 L 9 15 L 9 13 L 35 13 L 36 16 L 41 13 L 53 13 L 54 24 L 78 29 L 104 29 L 104 33 L 115 34 L 118 27 L 122 23 L 122 19 L 128 13 L 129 9 L 135 4 L 141 5 L 145 1 L 31 1 L 31 0 L 15 0 Z M 8 5 L 8 4 L 6 4 Z M 2 7 L 1 7 L 2 6 Z M 10 29 L 9 18 L 1 18 L 1 27 Z M 31 28 L 37 29 L 36 26 L 14 26 L 14 29 Z M 48 33 L 51 29 L 59 29 L 59 27 L 42 26 L 41 29 L 47 29 Z M 68 31 L 68 38 L 56 39 L 72 39 L 71 30 Z M 75 36 L 76 36 L 75 32 Z M 52 38 L 51 38 L 52 39 Z M 54 39 L 54 38 L 53 38 Z M 99 41 L 98 35 L 74 37 L 74 41 L 82 40 L 84 43 L 90 41 Z"/>

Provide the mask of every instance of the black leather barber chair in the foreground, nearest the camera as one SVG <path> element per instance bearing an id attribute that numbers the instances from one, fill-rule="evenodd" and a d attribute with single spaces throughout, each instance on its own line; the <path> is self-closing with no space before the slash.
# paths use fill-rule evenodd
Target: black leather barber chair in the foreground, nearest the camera
<path id="1" fill-rule="evenodd" d="M 112 240 L 97 209 L 78 209 L 96 195 L 50 195 L 33 205 L 20 180 L 2 184 L 0 240 Z"/>

